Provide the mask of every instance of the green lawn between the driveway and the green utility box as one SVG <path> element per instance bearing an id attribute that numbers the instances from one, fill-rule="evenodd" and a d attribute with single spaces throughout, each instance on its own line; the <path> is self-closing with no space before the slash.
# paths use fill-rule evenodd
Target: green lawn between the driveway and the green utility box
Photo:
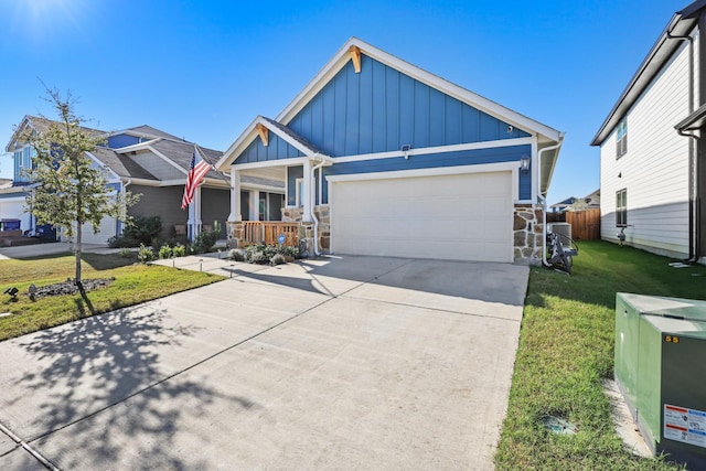
<path id="1" fill-rule="evenodd" d="M 672 470 L 623 449 L 601 382 L 613 375 L 616 292 L 705 299 L 706 266 L 631 247 L 584 242 L 571 276 L 533 267 L 525 300 L 499 470 Z M 574 436 L 545 430 L 542 417 L 578 426 Z"/>

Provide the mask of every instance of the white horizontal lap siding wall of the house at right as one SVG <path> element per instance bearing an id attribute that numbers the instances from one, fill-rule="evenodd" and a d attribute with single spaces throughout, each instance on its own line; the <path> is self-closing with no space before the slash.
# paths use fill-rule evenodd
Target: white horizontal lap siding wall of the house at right
<path id="1" fill-rule="evenodd" d="M 616 192 L 627 189 L 625 242 L 656 254 L 688 255 L 693 143 L 674 129 L 689 114 L 688 63 L 685 43 L 629 110 L 625 154 L 616 159 L 616 131 L 601 144 L 601 238 L 606 240 L 618 242 Z"/>

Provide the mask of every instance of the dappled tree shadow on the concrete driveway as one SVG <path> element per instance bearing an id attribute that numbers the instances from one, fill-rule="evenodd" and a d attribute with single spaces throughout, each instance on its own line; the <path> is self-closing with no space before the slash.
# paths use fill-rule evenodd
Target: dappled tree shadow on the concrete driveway
<path id="1" fill-rule="evenodd" d="M 61 469 L 89 467 L 90 463 L 66 458 L 75 460 L 76 453 L 68 451 L 76 448 L 82 449 L 83 457 L 99 457 L 103 462 L 119 460 L 124 445 L 120 440 L 146 432 L 159 436 L 160 440 L 140 443 L 140 454 L 149 457 L 145 462 L 184 469 L 171 440 L 178 428 L 183 427 L 180 420 L 184 413 L 197 415 L 216 398 L 227 399 L 234 408 L 248 409 L 254 403 L 236 396 L 224 397 L 194 381 L 169 381 L 195 365 L 160 371 L 159 349 L 179 345 L 180 338 L 192 335 L 195 329 L 167 327 L 164 318 L 164 312 L 157 309 L 140 317 L 116 311 L 22 338 L 20 346 L 33 358 L 33 364 L 13 384 L 30 395 L 11 398 L 2 408 L 28 410 L 26 404 L 15 403 L 31 400 L 32 414 L 26 422 L 8 424 L 9 428 L 30 445 L 62 429 L 73 428 L 71 437 L 90 428 L 88 441 L 53 440 L 51 456 L 46 458 Z M 122 408 L 125 413 L 100 414 L 101 420 L 107 420 L 105 426 L 89 425 L 94 416 L 111 408 Z M 190 467 L 194 464 L 206 462 L 191 457 Z"/>

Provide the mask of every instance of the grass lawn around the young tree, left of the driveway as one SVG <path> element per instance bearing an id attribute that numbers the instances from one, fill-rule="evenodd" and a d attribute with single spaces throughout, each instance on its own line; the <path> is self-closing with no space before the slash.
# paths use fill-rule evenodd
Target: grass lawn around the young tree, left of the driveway
<path id="1" fill-rule="evenodd" d="M 28 288 L 65 281 L 75 276 L 75 257 L 60 255 L 22 260 L 0 260 L 0 293 L 8 287 L 20 290 L 18 300 L 0 298 L 0 341 L 60 325 L 116 309 L 150 301 L 179 291 L 222 280 L 223 277 L 191 270 L 175 270 L 157 265 L 133 265 L 135 257 L 84 254 L 82 278 L 111 278 L 107 288 L 88 291 L 86 298 L 52 296 L 31 301 Z"/>

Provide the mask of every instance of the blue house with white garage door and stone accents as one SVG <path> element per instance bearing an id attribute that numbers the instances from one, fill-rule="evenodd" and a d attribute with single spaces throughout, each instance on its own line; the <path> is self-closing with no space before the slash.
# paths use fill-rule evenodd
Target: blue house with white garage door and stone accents
<path id="1" fill-rule="evenodd" d="M 234 245 L 276 210 L 315 253 L 537 263 L 563 139 L 353 38 L 216 167 Z M 280 181 L 284 201 L 244 189 L 252 178 Z"/>

